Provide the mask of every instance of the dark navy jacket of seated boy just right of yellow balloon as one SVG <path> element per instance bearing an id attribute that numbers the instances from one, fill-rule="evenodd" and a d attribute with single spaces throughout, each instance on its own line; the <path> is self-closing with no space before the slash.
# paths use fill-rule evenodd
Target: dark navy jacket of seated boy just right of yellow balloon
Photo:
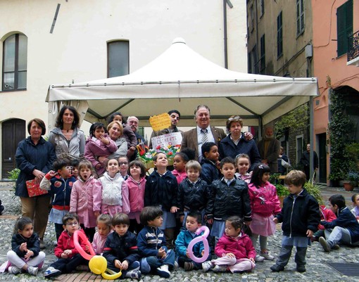
<path id="1" fill-rule="evenodd" d="M 120 260 L 120 262 L 127 260 L 128 265 L 139 260 L 137 240 L 134 233 L 127 231 L 124 236 L 120 236 L 116 232 L 109 234 L 103 248 L 103 257 L 112 263 L 115 262 L 115 259 Z"/>

